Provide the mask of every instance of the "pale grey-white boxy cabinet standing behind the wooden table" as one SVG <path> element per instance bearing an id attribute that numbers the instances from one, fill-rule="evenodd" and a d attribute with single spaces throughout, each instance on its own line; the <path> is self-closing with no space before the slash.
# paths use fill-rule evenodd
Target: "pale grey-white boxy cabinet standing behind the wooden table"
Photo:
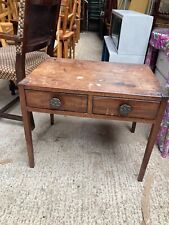
<path id="1" fill-rule="evenodd" d="M 102 61 L 143 64 L 152 24 L 152 16 L 113 10 L 110 36 L 104 37 Z"/>

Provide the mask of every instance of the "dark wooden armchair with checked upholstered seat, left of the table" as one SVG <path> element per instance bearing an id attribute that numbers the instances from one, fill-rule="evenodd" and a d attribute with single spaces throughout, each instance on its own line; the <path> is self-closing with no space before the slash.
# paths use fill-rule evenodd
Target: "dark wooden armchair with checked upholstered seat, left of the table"
<path id="1" fill-rule="evenodd" d="M 14 84 L 53 56 L 59 9 L 60 0 L 20 0 L 17 35 L 0 33 L 1 39 L 16 43 L 0 48 L 0 79 L 10 81 L 12 94 L 15 94 Z M 46 47 L 47 54 L 39 51 Z M 1 108 L 0 117 L 21 121 L 21 116 L 6 113 L 17 100 L 18 97 Z"/>

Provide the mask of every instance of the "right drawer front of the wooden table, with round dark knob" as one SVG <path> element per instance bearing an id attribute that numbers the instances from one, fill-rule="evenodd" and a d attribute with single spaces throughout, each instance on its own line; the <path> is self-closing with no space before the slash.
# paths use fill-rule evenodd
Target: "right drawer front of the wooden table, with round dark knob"
<path id="1" fill-rule="evenodd" d="M 119 117 L 155 119 L 158 102 L 123 100 L 111 97 L 93 97 L 93 113 Z"/>

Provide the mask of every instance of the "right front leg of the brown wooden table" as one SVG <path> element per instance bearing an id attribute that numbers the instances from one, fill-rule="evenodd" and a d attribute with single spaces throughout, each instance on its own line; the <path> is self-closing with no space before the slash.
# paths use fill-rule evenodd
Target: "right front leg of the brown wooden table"
<path id="1" fill-rule="evenodd" d="M 139 172 L 139 175 L 137 178 L 138 181 L 142 181 L 144 178 L 144 174 L 145 174 L 145 171 L 146 171 L 146 168 L 147 168 L 147 165 L 148 165 L 148 162 L 149 162 L 149 159 L 150 159 L 150 156 L 151 156 L 151 153 L 152 153 L 152 150 L 153 150 L 156 138 L 157 138 L 157 134 L 158 134 L 158 131 L 160 128 L 161 120 L 162 120 L 162 117 L 163 117 L 163 114 L 165 111 L 166 103 L 167 103 L 167 101 L 161 102 L 160 109 L 159 109 L 159 112 L 158 112 L 158 115 L 156 118 L 156 122 L 151 127 L 150 135 L 148 138 L 148 143 L 147 143 L 146 150 L 144 153 L 140 172 Z"/>

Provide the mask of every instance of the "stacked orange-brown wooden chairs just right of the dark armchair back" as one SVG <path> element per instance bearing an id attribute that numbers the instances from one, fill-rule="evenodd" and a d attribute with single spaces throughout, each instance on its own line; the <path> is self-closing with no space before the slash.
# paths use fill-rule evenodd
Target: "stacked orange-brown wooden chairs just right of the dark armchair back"
<path id="1" fill-rule="evenodd" d="M 62 0 L 57 26 L 55 56 L 75 58 L 75 43 L 80 37 L 80 0 Z"/>

